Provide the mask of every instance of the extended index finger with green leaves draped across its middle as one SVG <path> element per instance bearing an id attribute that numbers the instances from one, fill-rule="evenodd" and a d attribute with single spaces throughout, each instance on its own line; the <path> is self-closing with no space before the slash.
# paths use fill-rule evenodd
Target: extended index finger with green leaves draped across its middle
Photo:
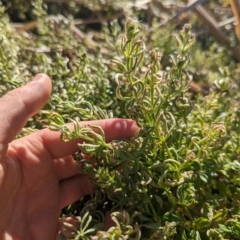
<path id="1" fill-rule="evenodd" d="M 81 126 L 97 125 L 100 126 L 106 136 L 106 141 L 129 139 L 133 137 L 139 127 L 136 122 L 130 119 L 105 119 L 98 121 L 81 122 Z M 44 146 L 47 148 L 53 158 L 61 158 L 78 151 L 77 143 L 82 140 L 73 140 L 63 142 L 60 139 L 60 133 L 50 131 L 48 129 L 39 131 L 35 134 L 40 134 Z M 32 135 L 33 136 L 33 135 Z"/>

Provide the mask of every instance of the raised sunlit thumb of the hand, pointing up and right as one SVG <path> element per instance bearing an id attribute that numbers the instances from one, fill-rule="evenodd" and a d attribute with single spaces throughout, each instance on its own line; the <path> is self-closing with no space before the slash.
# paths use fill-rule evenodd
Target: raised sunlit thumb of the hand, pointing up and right
<path id="1" fill-rule="evenodd" d="M 45 105 L 51 89 L 50 78 L 38 74 L 33 81 L 0 98 L 0 159 L 7 151 L 8 143 L 16 137 L 28 119 Z"/>

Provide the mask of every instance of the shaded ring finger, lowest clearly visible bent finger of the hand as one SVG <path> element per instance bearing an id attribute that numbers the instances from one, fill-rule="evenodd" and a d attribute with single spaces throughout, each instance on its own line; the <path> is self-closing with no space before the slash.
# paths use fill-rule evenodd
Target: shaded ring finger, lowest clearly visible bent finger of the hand
<path id="1" fill-rule="evenodd" d="M 77 175 L 60 181 L 60 209 L 92 192 L 89 175 Z"/>

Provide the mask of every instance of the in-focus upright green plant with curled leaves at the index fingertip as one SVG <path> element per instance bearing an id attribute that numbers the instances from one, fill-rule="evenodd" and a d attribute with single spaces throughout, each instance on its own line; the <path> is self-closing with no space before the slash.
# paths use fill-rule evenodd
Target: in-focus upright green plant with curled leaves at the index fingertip
<path id="1" fill-rule="evenodd" d="M 132 216 L 127 236 L 110 231 L 108 239 L 239 237 L 235 225 L 238 215 L 227 217 L 230 213 L 225 205 L 238 194 L 229 189 L 228 184 L 235 183 L 226 172 L 237 169 L 238 163 L 231 161 L 229 154 L 221 154 L 226 145 L 232 148 L 227 134 L 232 114 L 223 116 L 221 109 L 230 107 L 230 102 L 221 99 L 229 87 L 228 73 L 222 72 L 223 78 L 216 81 L 220 92 L 191 100 L 191 77 L 185 70 L 194 43 L 190 26 L 175 35 L 178 51 L 165 71 L 160 71 L 157 51 L 145 52 L 144 42 L 137 39 L 139 31 L 136 21 L 126 22 L 121 55 L 109 63 L 116 73 L 117 97 L 125 102 L 127 115 L 141 126 L 138 136 L 107 144 L 103 132 L 96 135 L 92 129 L 80 129 L 77 121 L 72 132 L 61 128 L 64 139 L 87 140 L 79 148 L 92 157 L 80 162 L 82 172 L 92 176 L 94 194 L 103 195 L 102 202 L 110 201 L 112 211 L 124 210 Z M 230 162 L 224 162 L 226 157 Z M 238 178 L 237 172 L 234 174 L 234 179 Z M 221 187 L 216 186 L 219 184 Z M 215 188 L 219 192 L 214 193 Z M 95 210 L 99 203 L 93 197 Z M 237 213 L 237 205 L 232 207 Z M 226 221 L 236 230 L 223 230 Z M 94 239 L 106 238 L 100 234 Z"/>

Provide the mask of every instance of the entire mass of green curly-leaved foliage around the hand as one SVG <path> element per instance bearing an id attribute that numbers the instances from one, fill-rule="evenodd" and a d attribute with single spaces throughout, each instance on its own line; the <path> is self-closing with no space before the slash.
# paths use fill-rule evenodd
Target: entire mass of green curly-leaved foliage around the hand
<path id="1" fill-rule="evenodd" d="M 115 20 L 103 26 L 99 38 L 108 41 L 93 46 L 76 37 L 71 19 L 49 18 L 37 2 L 37 29 L 21 37 L 0 9 L 0 86 L 2 95 L 48 73 L 52 97 L 19 136 L 50 127 L 63 141 L 85 141 L 79 150 L 90 159 L 75 158 L 94 192 L 62 211 L 74 214 L 79 227 L 64 223 L 61 237 L 239 239 L 239 67 L 226 50 L 214 44 L 203 51 L 189 24 L 174 35 L 166 26 L 147 36 L 131 18 L 124 32 Z M 190 91 L 199 78 L 209 85 L 205 94 Z M 113 116 L 136 120 L 140 132 L 107 143 L 98 126 L 79 126 Z M 104 231 L 108 211 L 114 225 Z"/>

